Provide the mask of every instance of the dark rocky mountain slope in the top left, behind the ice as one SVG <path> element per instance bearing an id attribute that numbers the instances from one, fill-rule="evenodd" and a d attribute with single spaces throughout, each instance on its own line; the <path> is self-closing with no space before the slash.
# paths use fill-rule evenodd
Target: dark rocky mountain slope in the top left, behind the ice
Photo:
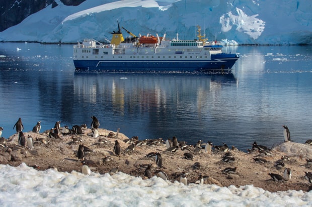
<path id="1" fill-rule="evenodd" d="M 60 0 L 66 6 L 77 6 L 86 0 Z M 54 0 L 2 0 L 0 1 L 0 32 L 21 23 L 28 16 L 48 7 L 57 7 Z"/>

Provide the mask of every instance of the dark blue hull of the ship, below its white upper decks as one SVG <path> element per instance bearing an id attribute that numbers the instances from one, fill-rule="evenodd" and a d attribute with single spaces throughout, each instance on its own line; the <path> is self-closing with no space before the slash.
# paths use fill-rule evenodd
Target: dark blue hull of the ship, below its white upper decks
<path id="1" fill-rule="evenodd" d="M 237 54 L 214 54 L 211 60 L 73 60 L 76 72 L 226 71 L 239 59 Z"/>

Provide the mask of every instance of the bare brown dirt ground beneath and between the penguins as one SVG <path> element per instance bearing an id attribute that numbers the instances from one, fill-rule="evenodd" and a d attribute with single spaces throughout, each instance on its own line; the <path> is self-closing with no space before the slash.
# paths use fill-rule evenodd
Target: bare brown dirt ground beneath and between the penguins
<path id="1" fill-rule="evenodd" d="M 119 133 L 118 138 L 106 138 L 108 143 L 100 143 L 99 138 L 88 137 L 87 134 L 91 129 L 87 129 L 83 135 L 74 136 L 81 139 L 81 141 L 73 142 L 73 135 L 60 136 L 62 139 L 49 138 L 44 133 L 25 132 L 25 136 L 31 134 L 34 140 L 38 138 L 45 138 L 48 143 L 35 142 L 33 149 L 25 149 L 18 146 L 18 135 L 12 135 L 9 140 L 11 142 L 4 144 L 6 147 L 0 147 L 0 163 L 18 166 L 25 162 L 29 166 L 38 165 L 38 170 L 45 170 L 51 166 L 56 167 L 59 171 L 71 172 L 72 170 L 81 172 L 82 163 L 78 161 L 76 152 L 79 144 L 92 149 L 92 152 L 86 153 L 87 165 L 94 172 L 101 174 L 110 172 L 112 168 L 119 166 L 119 171 L 144 178 L 144 169 L 139 168 L 139 164 L 153 163 L 153 171 L 157 168 L 153 158 L 145 157 L 149 152 L 160 152 L 163 158 L 163 170 L 168 174 L 171 181 L 179 180 L 180 174 L 186 170 L 188 175 L 188 182 L 195 182 L 199 174 L 209 175 L 210 179 L 206 182 L 208 184 L 218 184 L 220 186 L 244 186 L 254 185 L 265 190 L 286 191 L 289 189 L 308 191 L 310 183 L 304 178 L 304 171 L 310 171 L 312 166 L 306 164 L 305 158 L 300 156 L 292 156 L 290 160 L 286 161 L 285 167 L 292 169 L 292 178 L 290 180 L 273 181 L 268 175 L 269 172 L 282 175 L 284 168 L 276 169 L 274 167 L 275 161 L 281 159 L 282 155 L 287 155 L 283 152 L 273 150 L 273 155 L 260 156 L 259 152 L 246 153 L 242 151 L 232 151 L 236 160 L 232 163 L 222 161 L 223 152 L 214 150 L 211 154 L 195 153 L 194 160 L 187 160 L 184 158 L 186 151 L 178 150 L 176 152 L 166 151 L 165 144 L 157 145 L 143 145 L 136 146 L 134 151 L 126 151 L 129 144 L 123 142 L 127 139 L 124 134 Z M 102 138 L 108 136 L 109 132 L 106 129 L 99 129 Z M 116 134 L 116 132 L 113 132 Z M 115 140 L 118 139 L 122 152 L 121 156 L 115 156 L 113 147 Z M 179 140 L 182 141 L 182 140 Z M 112 161 L 103 161 L 103 158 L 109 155 Z M 265 164 L 256 163 L 253 158 L 261 157 L 267 159 L 269 162 Z M 195 162 L 200 162 L 201 168 L 194 169 L 192 165 Z M 237 167 L 236 174 L 226 174 L 222 170 L 226 167 Z"/>

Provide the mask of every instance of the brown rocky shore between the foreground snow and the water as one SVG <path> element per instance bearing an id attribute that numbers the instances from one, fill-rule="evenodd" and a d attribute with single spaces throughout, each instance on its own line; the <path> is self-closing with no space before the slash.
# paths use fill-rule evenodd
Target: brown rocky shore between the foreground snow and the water
<path id="1" fill-rule="evenodd" d="M 83 163 L 91 171 L 103 173 L 115 173 L 116 168 L 124 173 L 144 176 L 145 164 L 152 164 L 152 175 L 159 176 L 158 170 L 167 173 L 169 180 L 180 180 L 183 171 L 187 173 L 187 182 L 192 183 L 202 175 L 205 184 L 217 184 L 219 186 L 244 186 L 254 185 L 265 190 L 286 191 L 289 189 L 308 191 L 311 183 L 305 179 L 305 171 L 312 171 L 312 165 L 306 159 L 312 158 L 312 146 L 295 142 L 277 144 L 269 153 L 253 150 L 243 152 L 237 149 L 230 150 L 231 159 L 224 159 L 225 152 L 213 149 L 211 153 L 205 153 L 204 149 L 194 152 L 194 146 L 189 149 L 171 152 L 167 150 L 163 141 L 146 140 L 142 145 L 137 143 L 134 150 L 128 149 L 129 138 L 114 131 L 99 129 L 99 137 L 88 136 L 91 129 L 85 129 L 83 134 L 60 135 L 60 138 L 49 137 L 49 131 L 43 133 L 24 132 L 25 137 L 31 135 L 34 141 L 32 149 L 18 144 L 18 134 L 9 139 L 0 141 L 0 164 L 18 166 L 26 163 L 38 170 L 54 168 L 59 171 L 82 172 Z M 178 141 L 183 141 L 179 140 Z M 120 157 L 114 153 L 115 140 L 118 140 L 121 153 Z M 143 140 L 140 140 L 143 141 Z M 251 147 L 254 140 L 251 140 Z M 85 146 L 85 158 L 79 160 L 77 151 L 80 145 Z M 260 144 L 260 143 L 259 143 Z M 159 152 L 162 156 L 162 168 L 160 168 L 153 156 L 146 156 L 151 152 Z M 193 155 L 193 159 L 186 159 L 185 153 Z M 282 160 L 283 156 L 283 160 Z M 258 159 L 260 158 L 260 159 Z M 262 161 L 261 161 L 262 160 Z M 264 161 L 265 160 L 265 161 Z M 277 164 L 283 161 L 284 164 Z M 227 169 L 232 169 L 226 172 Z M 282 175 L 285 168 L 292 170 L 289 180 L 274 181 L 268 173 Z M 234 171 L 233 171 L 234 170 Z"/>

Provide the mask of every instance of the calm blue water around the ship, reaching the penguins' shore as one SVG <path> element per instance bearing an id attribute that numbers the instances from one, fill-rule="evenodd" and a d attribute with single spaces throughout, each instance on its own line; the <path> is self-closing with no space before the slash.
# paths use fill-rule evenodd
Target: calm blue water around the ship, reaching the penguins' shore
<path id="1" fill-rule="evenodd" d="M 74 74 L 72 45 L 0 43 L 3 136 L 98 117 L 128 137 L 198 139 L 246 150 L 254 141 L 312 138 L 312 46 L 239 46 L 231 75 Z M 42 131 L 43 131 L 42 130 Z"/>

